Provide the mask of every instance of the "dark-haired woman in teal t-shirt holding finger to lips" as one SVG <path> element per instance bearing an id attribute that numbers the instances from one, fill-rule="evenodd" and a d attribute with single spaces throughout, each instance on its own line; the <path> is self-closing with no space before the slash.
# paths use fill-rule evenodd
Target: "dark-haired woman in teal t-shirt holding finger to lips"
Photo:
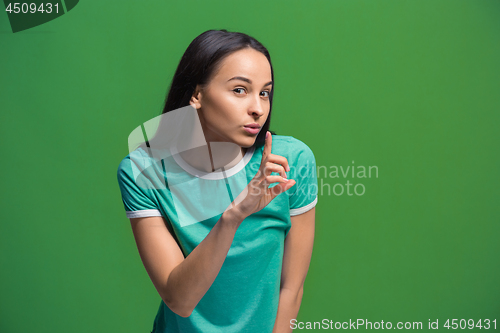
<path id="1" fill-rule="evenodd" d="M 127 217 L 162 298 L 153 333 L 291 332 L 312 253 L 317 178 L 309 147 L 268 132 L 273 84 L 269 53 L 254 38 L 202 33 L 179 63 L 162 116 L 193 111 L 206 144 L 178 149 L 183 137 L 165 149 L 171 156 L 150 173 L 163 187 L 151 177 L 139 186 L 137 171 L 148 168 L 152 143 L 161 150 L 168 140 L 155 136 L 119 165 Z M 189 124 L 177 134 L 191 140 L 200 133 Z"/>

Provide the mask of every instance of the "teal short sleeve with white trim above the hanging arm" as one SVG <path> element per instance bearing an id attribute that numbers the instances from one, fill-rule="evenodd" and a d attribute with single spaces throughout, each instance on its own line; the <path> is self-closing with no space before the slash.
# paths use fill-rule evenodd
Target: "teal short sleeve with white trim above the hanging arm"
<path id="1" fill-rule="evenodd" d="M 318 178 L 316 175 L 316 159 L 312 150 L 297 140 L 294 161 L 290 163 L 291 178 L 296 184 L 290 195 L 290 216 L 300 215 L 311 210 L 318 202 Z M 292 165 L 294 164 L 294 165 Z"/>

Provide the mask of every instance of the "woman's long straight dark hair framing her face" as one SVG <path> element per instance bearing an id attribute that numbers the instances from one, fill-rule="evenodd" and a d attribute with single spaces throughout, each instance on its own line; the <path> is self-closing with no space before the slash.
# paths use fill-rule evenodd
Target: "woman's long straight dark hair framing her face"
<path id="1" fill-rule="evenodd" d="M 274 92 L 273 65 L 267 49 L 255 38 L 241 32 L 229 32 L 226 29 L 208 30 L 189 44 L 175 71 L 162 114 L 189 105 L 196 86 L 208 84 L 212 74 L 225 57 L 247 47 L 264 54 L 271 66 L 273 86 L 269 94 L 269 114 L 253 146 L 263 145 L 271 122 Z M 276 134 L 270 130 L 269 132 Z"/>

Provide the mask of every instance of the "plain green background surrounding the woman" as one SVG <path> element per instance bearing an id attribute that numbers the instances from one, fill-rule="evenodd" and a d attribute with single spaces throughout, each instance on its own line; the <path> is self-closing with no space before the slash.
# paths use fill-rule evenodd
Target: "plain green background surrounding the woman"
<path id="1" fill-rule="evenodd" d="M 0 13 L 0 331 L 150 332 L 116 170 L 222 28 L 270 51 L 272 130 L 378 167 L 320 173 L 365 193 L 320 188 L 298 320 L 500 321 L 500 1 L 80 1 L 18 33 Z"/>

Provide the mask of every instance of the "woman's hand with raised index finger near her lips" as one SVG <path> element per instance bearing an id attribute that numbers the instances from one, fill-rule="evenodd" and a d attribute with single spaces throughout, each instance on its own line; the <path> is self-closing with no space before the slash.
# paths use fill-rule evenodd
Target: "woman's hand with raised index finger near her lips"
<path id="1" fill-rule="evenodd" d="M 259 171 L 228 207 L 228 210 L 234 211 L 242 219 L 266 207 L 277 195 L 295 185 L 295 180 L 286 178 L 285 170 L 290 171 L 287 159 L 271 154 L 272 135 L 269 132 L 266 134 Z M 271 176 L 272 172 L 280 175 Z M 269 185 L 275 182 L 279 184 L 269 188 Z"/>

